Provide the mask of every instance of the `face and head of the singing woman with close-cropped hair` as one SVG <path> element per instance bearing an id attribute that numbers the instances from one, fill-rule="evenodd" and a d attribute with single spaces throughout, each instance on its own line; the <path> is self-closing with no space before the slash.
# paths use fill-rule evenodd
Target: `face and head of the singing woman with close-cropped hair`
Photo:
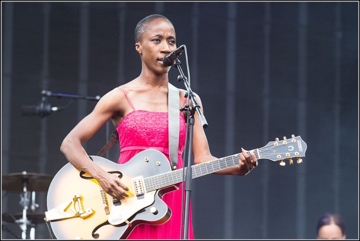
<path id="1" fill-rule="evenodd" d="M 166 74 L 170 67 L 163 65 L 165 55 L 176 50 L 176 36 L 173 25 L 163 18 L 151 20 L 141 40 L 135 44 L 141 53 L 142 67 L 156 74 Z"/>

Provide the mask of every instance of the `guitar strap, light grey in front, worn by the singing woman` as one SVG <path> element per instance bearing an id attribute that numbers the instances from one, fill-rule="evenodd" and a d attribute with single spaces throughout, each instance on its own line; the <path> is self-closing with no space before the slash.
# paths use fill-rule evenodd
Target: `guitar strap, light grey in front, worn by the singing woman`
<path id="1" fill-rule="evenodd" d="M 168 106 L 169 106 L 169 156 L 171 167 L 176 170 L 178 165 L 179 132 L 180 132 L 180 97 L 179 89 L 169 83 L 168 86 Z M 112 132 L 110 140 L 105 144 L 97 156 L 103 156 L 114 143 L 119 142 L 117 130 Z"/>

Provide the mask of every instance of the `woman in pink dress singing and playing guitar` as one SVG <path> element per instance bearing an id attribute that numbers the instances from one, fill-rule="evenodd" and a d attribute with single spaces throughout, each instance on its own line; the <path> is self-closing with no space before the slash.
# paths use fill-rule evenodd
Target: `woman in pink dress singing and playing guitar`
<path id="1" fill-rule="evenodd" d="M 135 28 L 135 50 L 141 59 L 140 75 L 104 95 L 94 110 L 70 131 L 61 145 L 61 151 L 75 167 L 97 179 L 101 187 L 115 199 L 129 195 L 128 187 L 115 175 L 105 172 L 92 162 L 82 143 L 92 137 L 111 119 L 119 133 L 121 155 L 118 163 L 129 161 L 135 154 L 144 149 L 160 149 L 169 159 L 167 86 L 170 67 L 163 64 L 165 55 L 176 50 L 176 34 L 172 22 L 162 15 L 150 15 L 137 24 Z M 182 106 L 186 99 L 185 90 L 180 90 Z M 197 100 L 202 109 L 199 96 Z M 181 153 L 185 143 L 185 118 L 183 111 L 180 118 L 178 168 L 182 167 Z M 253 153 L 250 156 L 243 150 L 239 165 L 217 172 L 217 174 L 244 176 L 257 165 Z M 198 164 L 217 159 L 210 154 L 208 142 L 195 114 L 193 133 L 193 157 Z M 169 221 L 162 225 L 141 224 L 134 228 L 128 238 L 135 239 L 178 239 L 181 226 L 181 186 L 180 190 L 169 192 L 163 201 L 172 210 Z M 193 239 L 191 214 L 189 216 L 188 238 Z"/>

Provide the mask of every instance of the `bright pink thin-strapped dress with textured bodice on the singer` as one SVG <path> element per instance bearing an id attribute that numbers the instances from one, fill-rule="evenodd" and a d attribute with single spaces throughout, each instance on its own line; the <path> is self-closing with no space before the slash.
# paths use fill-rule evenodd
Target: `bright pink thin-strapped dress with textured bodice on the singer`
<path id="1" fill-rule="evenodd" d="M 121 88 L 119 88 L 121 89 Z M 123 90 L 123 89 L 121 89 Z M 124 91 L 124 90 L 123 90 Z M 161 151 L 169 159 L 169 116 L 167 112 L 153 112 L 135 110 L 127 93 L 124 91 L 133 111 L 126 115 L 117 126 L 121 155 L 118 163 L 129 161 L 134 155 L 145 149 Z M 186 138 L 185 118 L 179 117 L 179 153 L 178 168 L 183 167 L 182 152 Z M 182 184 L 179 190 L 168 192 L 162 200 L 170 207 L 172 214 L 169 221 L 161 225 L 140 224 L 130 233 L 128 239 L 180 239 L 181 232 L 181 195 Z M 191 206 L 190 206 L 191 207 Z M 188 239 L 194 239 L 191 222 L 191 208 L 189 211 Z"/>

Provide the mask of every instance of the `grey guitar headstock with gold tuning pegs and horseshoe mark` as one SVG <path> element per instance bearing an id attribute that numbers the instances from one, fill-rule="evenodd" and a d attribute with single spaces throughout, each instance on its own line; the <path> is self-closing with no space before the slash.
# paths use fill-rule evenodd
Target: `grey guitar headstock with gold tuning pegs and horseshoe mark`
<path id="1" fill-rule="evenodd" d="M 305 156 L 307 145 L 300 136 L 292 135 L 290 139 L 285 136 L 283 140 L 275 138 L 275 141 L 270 141 L 265 147 L 259 149 L 259 159 L 268 159 L 273 162 L 280 161 L 280 165 L 284 166 L 285 159 L 289 159 L 289 164 L 294 163 L 292 158 L 297 158 L 297 163 L 302 162 L 302 157 Z"/>

